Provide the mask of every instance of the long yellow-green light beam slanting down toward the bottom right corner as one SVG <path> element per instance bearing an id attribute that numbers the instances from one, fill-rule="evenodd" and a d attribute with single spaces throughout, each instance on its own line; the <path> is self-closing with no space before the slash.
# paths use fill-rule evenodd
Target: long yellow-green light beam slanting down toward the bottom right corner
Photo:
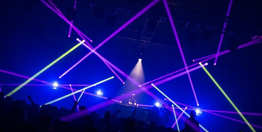
<path id="1" fill-rule="evenodd" d="M 207 75 L 211 78 L 211 80 L 216 84 L 218 89 L 224 94 L 226 99 L 230 102 L 230 104 L 235 108 L 235 110 L 238 112 L 238 114 L 242 117 L 242 119 L 245 121 L 245 123 L 249 126 L 249 128 L 255 132 L 255 129 L 250 125 L 250 123 L 246 120 L 246 118 L 243 116 L 243 114 L 239 111 L 239 109 L 235 106 L 235 104 L 231 101 L 231 99 L 226 95 L 224 90 L 219 86 L 219 84 L 216 82 L 216 80 L 211 76 L 211 74 L 206 70 L 206 68 L 202 65 L 201 62 L 199 62 L 200 66 L 206 71 Z"/>

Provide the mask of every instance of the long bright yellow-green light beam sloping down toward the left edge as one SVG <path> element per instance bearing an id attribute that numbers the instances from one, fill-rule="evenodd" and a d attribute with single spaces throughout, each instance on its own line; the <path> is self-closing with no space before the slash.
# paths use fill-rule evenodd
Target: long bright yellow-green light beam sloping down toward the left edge
<path id="1" fill-rule="evenodd" d="M 65 57 L 67 54 L 69 54 L 71 51 L 73 51 L 75 48 L 77 48 L 78 46 L 80 46 L 82 43 L 84 43 L 85 40 L 81 41 L 80 43 L 78 43 L 77 45 L 75 45 L 73 48 L 71 48 L 70 50 L 68 50 L 67 52 L 65 52 L 63 55 L 61 55 L 60 57 L 58 57 L 56 60 L 54 60 L 53 62 L 51 62 L 49 65 L 47 65 L 45 68 L 43 68 L 41 71 L 37 72 L 35 75 L 33 75 L 32 77 L 30 77 L 28 80 L 26 80 L 24 83 L 22 83 L 21 85 L 19 85 L 17 88 L 15 88 L 14 90 L 12 90 L 10 93 L 8 93 L 6 96 L 11 96 L 12 94 L 14 94 L 15 92 L 17 92 L 19 89 L 21 89 L 23 86 L 25 86 L 27 83 L 29 83 L 30 81 L 32 81 L 34 78 L 36 78 L 38 75 L 40 75 L 42 72 L 46 71 L 46 69 L 48 69 L 49 67 L 51 67 L 52 65 L 54 65 L 57 61 L 61 60 L 63 57 Z"/>

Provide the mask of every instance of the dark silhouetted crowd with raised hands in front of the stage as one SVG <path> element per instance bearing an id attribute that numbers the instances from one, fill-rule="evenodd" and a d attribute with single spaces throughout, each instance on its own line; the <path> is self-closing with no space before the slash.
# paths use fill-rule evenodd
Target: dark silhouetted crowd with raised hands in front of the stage
<path id="1" fill-rule="evenodd" d="M 12 97 L 4 97 L 0 92 L 0 131 L 1 132 L 178 132 L 173 128 L 158 126 L 156 121 L 141 121 L 135 118 L 136 110 L 127 118 L 117 117 L 120 110 L 114 113 L 106 111 L 103 116 L 96 112 L 82 116 L 81 118 L 67 122 L 59 118 L 77 112 L 78 102 L 72 103 L 69 110 L 65 107 L 60 109 L 50 104 L 41 105 L 33 101 L 31 96 L 27 97 L 31 104 L 26 104 L 25 100 L 13 100 Z M 79 111 L 87 109 L 80 106 Z M 196 113 L 191 112 L 190 118 L 185 121 L 185 129 L 181 132 L 195 132 L 187 124 L 193 122 L 197 126 L 199 123 L 194 119 Z M 200 131 L 200 130 L 199 130 Z"/>

